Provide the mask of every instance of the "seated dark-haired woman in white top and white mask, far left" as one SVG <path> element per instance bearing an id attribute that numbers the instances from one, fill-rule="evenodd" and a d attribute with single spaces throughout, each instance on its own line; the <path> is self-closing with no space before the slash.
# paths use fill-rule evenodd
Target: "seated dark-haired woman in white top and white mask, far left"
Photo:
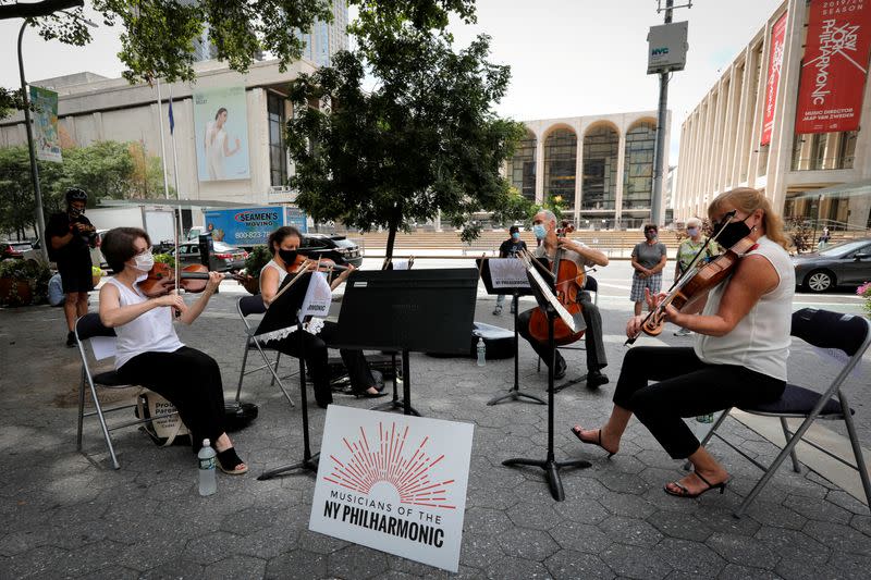
<path id="1" fill-rule="evenodd" d="M 191 306 L 174 292 L 148 298 L 136 285 L 155 266 L 148 234 L 138 227 L 115 227 L 103 236 L 101 249 L 114 275 L 100 288 L 100 321 L 118 335 L 115 369 L 120 378 L 146 386 L 175 405 L 191 430 L 194 455 L 208 439 L 224 473 L 245 473 L 248 467 L 224 430 L 224 392 L 218 362 L 182 344 L 172 326 L 173 310 L 185 324 L 197 319 L 223 274 L 210 272 L 206 289 Z M 167 288 L 173 285 L 172 279 L 165 281 Z"/>

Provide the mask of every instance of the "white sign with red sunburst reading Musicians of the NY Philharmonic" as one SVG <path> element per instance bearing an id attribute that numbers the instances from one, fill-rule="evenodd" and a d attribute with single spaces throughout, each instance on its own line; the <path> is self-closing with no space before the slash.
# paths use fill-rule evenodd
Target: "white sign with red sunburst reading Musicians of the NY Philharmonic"
<path id="1" fill-rule="evenodd" d="M 330 405 L 308 528 L 457 571 L 473 425 Z"/>

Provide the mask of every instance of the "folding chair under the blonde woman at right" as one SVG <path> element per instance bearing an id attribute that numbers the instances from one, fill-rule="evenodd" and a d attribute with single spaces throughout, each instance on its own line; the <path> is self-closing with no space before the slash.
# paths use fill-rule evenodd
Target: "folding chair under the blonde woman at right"
<path id="1" fill-rule="evenodd" d="M 848 359 L 844 362 L 841 372 L 837 373 L 832 383 L 829 384 L 822 393 L 805 388 L 803 386 L 787 384 L 780 400 L 755 407 L 740 407 L 740 410 L 748 414 L 780 418 L 786 445 L 774 461 L 765 467 L 716 432 L 728 416 L 731 409 L 725 410 L 720 416 L 720 419 L 702 440 L 701 445 L 704 446 L 713 435 L 716 435 L 723 443 L 764 471 L 762 478 L 757 482 L 750 493 L 747 494 L 741 505 L 735 510 L 735 516 L 740 517 L 750 505 L 750 502 L 759 495 L 762 488 L 771 480 L 787 455 L 793 459 L 793 470 L 796 473 L 800 472 L 795 448 L 815 419 L 843 420 L 847 427 L 856 465 L 820 447 L 812 441 L 805 440 L 805 443 L 824 453 L 829 457 L 858 470 L 862 481 L 862 488 L 864 489 L 866 498 L 871 508 L 871 482 L 869 482 L 868 468 L 866 467 L 864 457 L 862 457 L 862 448 L 859 444 L 859 439 L 856 435 L 856 427 L 852 422 L 854 410 L 850 408 L 847 398 L 844 396 L 844 392 L 841 390 L 841 385 L 862 358 L 866 349 L 868 349 L 869 343 L 871 343 L 871 324 L 861 316 L 842 314 L 829 310 L 818 310 L 815 308 L 802 308 L 793 313 L 792 335 L 819 348 L 841 350 Z M 789 430 L 786 422 L 788 418 L 800 418 L 805 420 L 799 428 L 793 432 Z"/>

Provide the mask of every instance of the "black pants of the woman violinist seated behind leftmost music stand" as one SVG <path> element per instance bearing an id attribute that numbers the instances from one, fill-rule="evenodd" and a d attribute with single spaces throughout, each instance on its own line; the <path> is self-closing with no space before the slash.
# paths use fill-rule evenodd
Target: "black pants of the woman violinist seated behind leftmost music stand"
<path id="1" fill-rule="evenodd" d="M 303 332 L 302 348 L 306 366 L 315 383 L 315 400 L 317 400 L 318 406 L 323 408 L 333 402 L 327 360 L 329 357 L 328 348 L 335 344 L 334 340 L 338 331 L 339 324 L 326 321 L 318 334 Z M 281 341 L 271 342 L 269 345 L 285 355 L 299 357 L 299 336 L 296 332 Z M 342 355 L 342 361 L 345 363 L 351 379 L 351 386 L 355 392 L 360 393 L 376 384 L 375 378 L 369 370 L 369 363 L 366 361 L 361 350 L 342 348 L 339 354 Z"/>

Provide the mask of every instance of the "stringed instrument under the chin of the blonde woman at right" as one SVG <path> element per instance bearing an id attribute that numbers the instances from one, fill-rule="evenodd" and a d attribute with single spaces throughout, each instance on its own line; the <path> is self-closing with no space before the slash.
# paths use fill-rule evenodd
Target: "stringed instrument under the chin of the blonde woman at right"
<path id="1" fill-rule="evenodd" d="M 690 269 L 663 297 L 657 308 L 648 313 L 641 324 L 641 332 L 649 336 L 659 336 L 665 325 L 666 306 L 672 305 L 678 311 L 691 310 L 692 306 L 703 300 L 712 288 L 732 275 L 741 256 L 753 249 L 753 246 L 756 242 L 745 237 L 701 268 Z M 626 344 L 633 344 L 638 336 L 633 336 Z"/>

